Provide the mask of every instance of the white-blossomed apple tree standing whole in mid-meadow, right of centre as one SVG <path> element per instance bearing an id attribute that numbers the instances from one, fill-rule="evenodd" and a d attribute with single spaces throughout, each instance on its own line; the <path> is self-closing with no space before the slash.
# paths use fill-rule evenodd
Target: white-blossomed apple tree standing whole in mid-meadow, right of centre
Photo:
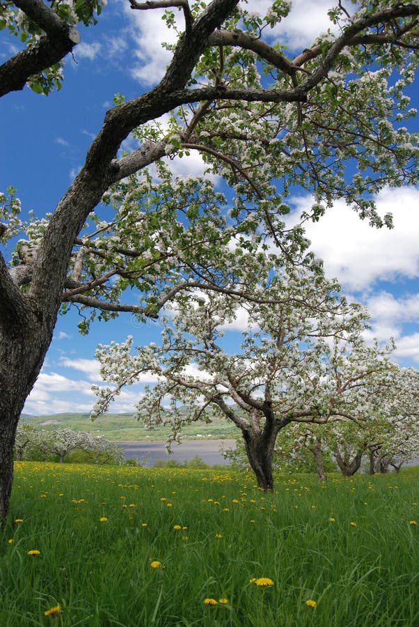
<path id="1" fill-rule="evenodd" d="M 223 349 L 220 327 L 237 314 L 237 302 L 226 295 L 180 302 L 164 322 L 161 346 L 138 348 L 136 355 L 132 339 L 99 347 L 102 377 L 116 385 L 95 387 L 100 400 L 93 415 L 151 372 L 159 380 L 146 389 L 137 417 L 166 421 L 172 440 L 186 422 L 214 412 L 227 417 L 242 431 L 261 488 L 273 486 L 276 438 L 288 424 L 365 420 L 389 394 L 396 366 L 388 349 L 365 346 L 365 310 L 339 297 L 319 268 L 313 275 L 291 264 L 285 272 L 286 265 L 282 260 L 282 274 L 278 268 L 260 285 L 257 302 L 246 303 L 253 327 L 239 352 Z M 188 415 L 180 411 L 184 405 Z"/>

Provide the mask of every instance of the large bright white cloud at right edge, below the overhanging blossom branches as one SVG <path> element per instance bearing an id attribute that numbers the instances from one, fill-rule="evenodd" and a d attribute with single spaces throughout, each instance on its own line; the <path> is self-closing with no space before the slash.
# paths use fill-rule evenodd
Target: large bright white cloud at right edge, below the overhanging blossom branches
<path id="1" fill-rule="evenodd" d="M 297 199 L 297 213 L 310 208 L 309 196 Z M 306 223 L 315 253 L 326 274 L 345 288 L 361 291 L 379 280 L 419 277 L 419 189 L 385 189 L 377 196 L 380 215 L 392 212 L 394 229 L 374 229 L 338 201 L 319 222 Z M 294 215 L 295 219 L 295 215 Z"/>

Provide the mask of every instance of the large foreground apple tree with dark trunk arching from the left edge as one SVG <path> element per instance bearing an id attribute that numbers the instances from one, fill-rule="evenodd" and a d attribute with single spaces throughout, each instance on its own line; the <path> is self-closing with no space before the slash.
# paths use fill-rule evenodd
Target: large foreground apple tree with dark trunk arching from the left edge
<path id="1" fill-rule="evenodd" d="M 404 91 L 416 71 L 417 2 L 360 0 L 355 11 L 340 3 L 329 11 L 338 34 L 319 36 L 294 58 L 263 38 L 286 18 L 285 0 L 262 15 L 239 0 L 174 4 L 184 31 L 163 79 L 129 102 L 117 98 L 52 215 L 25 224 L 14 190 L 1 196 L 1 243 L 22 231 L 26 242 L 11 266 L 0 256 L 0 518 L 8 511 L 17 421 L 62 307 L 102 318 L 129 311 L 143 320 L 197 284 L 245 293 L 241 272 L 224 261 L 228 242 L 237 234 L 248 247 L 252 237 L 269 236 L 289 254 L 306 245 L 301 229 L 287 239 L 281 220 L 296 185 L 314 194 L 315 219 L 345 198 L 380 224 L 372 194 L 417 180 L 416 139 L 403 124 L 414 113 Z M 130 5 L 151 10 L 171 2 Z M 100 6 L 1 3 L 0 26 L 27 45 L 0 66 L 0 93 L 25 82 L 42 93 L 59 86 L 57 64 L 79 40 L 74 27 L 94 21 Z M 173 15 L 165 15 L 170 27 Z M 157 120 L 163 114 L 165 128 Z M 138 145 L 120 155 L 130 133 Z M 150 183 L 150 164 L 191 150 L 230 188 L 230 215 L 218 212 L 207 180 L 169 182 L 159 173 Z M 141 291 L 140 304 L 120 298 L 129 286 Z"/>

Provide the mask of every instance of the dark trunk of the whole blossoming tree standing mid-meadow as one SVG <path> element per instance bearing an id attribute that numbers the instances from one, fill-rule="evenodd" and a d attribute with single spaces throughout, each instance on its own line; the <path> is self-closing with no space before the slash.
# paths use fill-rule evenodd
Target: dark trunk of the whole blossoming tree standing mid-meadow
<path id="1" fill-rule="evenodd" d="M 272 490 L 274 488 L 274 474 L 272 471 L 272 459 L 277 431 L 272 429 L 271 433 L 243 432 L 244 446 L 248 463 L 255 473 L 258 488 Z"/>

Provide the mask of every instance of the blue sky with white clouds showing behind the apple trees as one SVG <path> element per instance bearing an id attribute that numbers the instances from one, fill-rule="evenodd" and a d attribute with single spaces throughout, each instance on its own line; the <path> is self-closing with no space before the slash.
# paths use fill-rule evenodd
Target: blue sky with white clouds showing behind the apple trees
<path id="1" fill-rule="evenodd" d="M 268 0 L 248 2 L 250 10 L 268 5 Z M 329 27 L 326 9 L 332 5 L 333 0 L 295 0 L 290 17 L 271 33 L 272 42 L 280 40 L 296 51 L 308 47 Z M 14 185 L 25 212 L 33 209 L 44 215 L 54 210 L 83 164 L 115 93 L 131 98 L 163 75 L 168 55 L 161 41 L 173 40 L 173 31 L 166 30 L 161 14 L 132 11 L 127 0 L 110 0 L 96 26 L 79 29 L 82 42 L 74 57 L 65 59 L 61 91 L 45 97 L 25 88 L 1 98 L 0 190 Z M 15 45 L 1 31 L 0 61 L 13 53 Z M 418 122 L 413 124 L 418 129 Z M 191 155 L 175 160 L 173 167 L 177 172 L 200 173 L 202 161 Z M 310 206 L 308 196 L 293 201 L 296 210 Z M 344 292 L 370 309 L 370 336 L 381 341 L 393 336 L 395 359 L 418 366 L 419 189 L 385 190 L 377 205 L 383 214 L 393 212 L 392 231 L 370 228 L 341 202 L 319 223 L 308 224 L 308 236 L 324 259 L 327 274 L 338 277 Z M 59 318 L 26 412 L 88 412 L 95 400 L 90 385 L 100 381 L 95 346 L 122 341 L 129 334 L 137 344 L 156 341 L 159 323 L 138 325 L 132 316 L 122 315 L 95 323 L 86 337 L 77 332 L 76 312 Z M 113 410 L 132 410 L 139 393 L 141 387 L 127 389 Z"/>

